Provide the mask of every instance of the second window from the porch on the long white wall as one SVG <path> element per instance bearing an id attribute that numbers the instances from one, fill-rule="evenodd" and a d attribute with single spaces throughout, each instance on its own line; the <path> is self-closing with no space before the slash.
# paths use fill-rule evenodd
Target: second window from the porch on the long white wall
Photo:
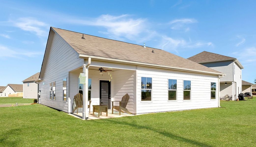
<path id="1" fill-rule="evenodd" d="M 177 100 L 177 80 L 168 79 L 168 101 Z"/>

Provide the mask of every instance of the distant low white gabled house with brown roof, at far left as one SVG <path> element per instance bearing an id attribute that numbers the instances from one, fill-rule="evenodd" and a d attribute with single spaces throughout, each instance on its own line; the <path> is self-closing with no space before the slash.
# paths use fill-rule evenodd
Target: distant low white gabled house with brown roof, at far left
<path id="1" fill-rule="evenodd" d="M 2 91 L 1 97 L 8 97 L 9 94 L 23 93 L 22 84 L 7 84 Z"/>

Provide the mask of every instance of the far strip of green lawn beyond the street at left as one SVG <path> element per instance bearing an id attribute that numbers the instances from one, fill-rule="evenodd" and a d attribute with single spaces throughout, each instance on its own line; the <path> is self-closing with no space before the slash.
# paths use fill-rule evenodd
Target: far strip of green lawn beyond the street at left
<path id="1" fill-rule="evenodd" d="M 34 99 L 23 99 L 22 97 L 0 97 L 0 104 L 34 103 Z"/>

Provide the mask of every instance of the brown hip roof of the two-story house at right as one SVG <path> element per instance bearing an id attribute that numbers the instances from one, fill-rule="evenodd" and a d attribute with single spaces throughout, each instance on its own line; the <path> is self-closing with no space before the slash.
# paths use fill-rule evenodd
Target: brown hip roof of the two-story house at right
<path id="1" fill-rule="evenodd" d="M 206 62 L 218 62 L 223 60 L 234 60 L 236 58 L 203 51 L 199 54 L 189 57 L 188 59 L 196 63 L 206 63 Z"/>

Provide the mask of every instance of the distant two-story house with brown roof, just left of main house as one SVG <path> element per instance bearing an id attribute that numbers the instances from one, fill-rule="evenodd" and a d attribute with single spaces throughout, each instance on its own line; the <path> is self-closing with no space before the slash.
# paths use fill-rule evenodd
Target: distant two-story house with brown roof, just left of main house
<path id="1" fill-rule="evenodd" d="M 38 84 L 35 82 L 39 78 L 40 72 L 37 72 L 33 76 L 23 80 L 23 98 L 25 99 L 37 99 Z"/>

